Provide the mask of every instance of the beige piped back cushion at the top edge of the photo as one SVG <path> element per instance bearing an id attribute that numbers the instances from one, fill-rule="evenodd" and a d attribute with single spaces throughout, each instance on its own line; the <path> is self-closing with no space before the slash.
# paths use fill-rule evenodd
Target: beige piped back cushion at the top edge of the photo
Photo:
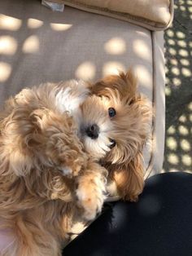
<path id="1" fill-rule="evenodd" d="M 151 30 L 168 28 L 172 22 L 173 0 L 48 0 L 63 2 L 84 11 L 109 15 L 111 17 L 142 25 Z"/>

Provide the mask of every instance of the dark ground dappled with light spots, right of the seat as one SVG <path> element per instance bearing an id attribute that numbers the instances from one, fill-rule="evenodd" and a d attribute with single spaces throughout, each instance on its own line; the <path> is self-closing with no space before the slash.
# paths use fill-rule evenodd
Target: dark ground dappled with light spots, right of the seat
<path id="1" fill-rule="evenodd" d="M 192 2 L 176 0 L 164 33 L 166 137 L 164 170 L 192 172 Z"/>

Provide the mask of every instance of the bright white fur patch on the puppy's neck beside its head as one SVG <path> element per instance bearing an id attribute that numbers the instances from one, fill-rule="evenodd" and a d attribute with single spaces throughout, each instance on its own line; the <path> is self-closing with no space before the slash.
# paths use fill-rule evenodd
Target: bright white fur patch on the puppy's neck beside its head
<path id="1" fill-rule="evenodd" d="M 61 112 L 70 113 L 72 116 L 89 95 L 85 82 L 72 80 L 68 86 L 59 90 L 56 95 L 56 106 Z"/>

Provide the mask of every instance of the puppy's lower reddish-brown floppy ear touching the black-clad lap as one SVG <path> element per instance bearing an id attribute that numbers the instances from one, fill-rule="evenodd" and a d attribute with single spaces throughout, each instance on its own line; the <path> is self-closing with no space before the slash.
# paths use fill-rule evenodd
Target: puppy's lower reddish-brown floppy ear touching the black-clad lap
<path id="1" fill-rule="evenodd" d="M 142 153 L 124 164 L 112 164 L 107 167 L 111 181 L 116 183 L 117 192 L 126 201 L 137 201 L 144 187 Z"/>

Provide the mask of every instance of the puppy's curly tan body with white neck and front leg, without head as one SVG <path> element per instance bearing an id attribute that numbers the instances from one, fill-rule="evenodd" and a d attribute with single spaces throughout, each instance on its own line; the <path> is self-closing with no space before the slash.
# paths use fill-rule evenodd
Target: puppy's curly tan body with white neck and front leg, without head
<path id="1" fill-rule="evenodd" d="M 61 255 L 76 215 L 93 219 L 102 209 L 106 170 L 97 162 L 111 142 L 102 153 L 81 143 L 81 133 L 84 141 L 98 136 L 83 124 L 89 93 L 81 81 L 44 84 L 0 113 L 1 255 Z"/>

